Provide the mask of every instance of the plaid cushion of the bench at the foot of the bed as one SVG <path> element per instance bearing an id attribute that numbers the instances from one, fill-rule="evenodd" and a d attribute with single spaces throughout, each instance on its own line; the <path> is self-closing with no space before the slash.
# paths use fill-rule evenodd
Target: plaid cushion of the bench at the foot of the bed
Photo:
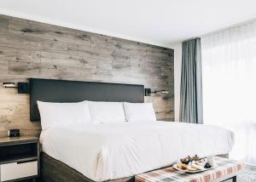
<path id="1" fill-rule="evenodd" d="M 235 160 L 226 159 L 216 156 L 216 163 L 218 167 L 212 168 L 201 173 L 184 173 L 176 169 L 161 168 L 148 173 L 141 173 L 136 175 L 136 182 L 155 182 L 155 181 L 177 181 L 177 182 L 208 182 L 213 179 L 220 179 L 224 176 L 234 174 L 245 168 L 245 164 Z"/>

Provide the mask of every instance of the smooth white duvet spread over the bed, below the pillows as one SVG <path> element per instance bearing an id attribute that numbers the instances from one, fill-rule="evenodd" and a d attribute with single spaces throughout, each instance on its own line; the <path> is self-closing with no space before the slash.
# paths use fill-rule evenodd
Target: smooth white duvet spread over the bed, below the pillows
<path id="1" fill-rule="evenodd" d="M 188 155 L 229 153 L 224 128 L 183 122 L 122 122 L 48 128 L 43 151 L 89 179 L 119 179 L 162 168 Z"/>

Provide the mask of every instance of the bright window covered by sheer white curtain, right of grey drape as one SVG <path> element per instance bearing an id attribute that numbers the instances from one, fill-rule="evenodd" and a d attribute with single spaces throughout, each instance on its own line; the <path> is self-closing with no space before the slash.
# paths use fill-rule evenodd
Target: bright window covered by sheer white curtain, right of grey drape
<path id="1" fill-rule="evenodd" d="M 256 22 L 201 38 L 206 124 L 236 135 L 230 156 L 256 164 Z"/>

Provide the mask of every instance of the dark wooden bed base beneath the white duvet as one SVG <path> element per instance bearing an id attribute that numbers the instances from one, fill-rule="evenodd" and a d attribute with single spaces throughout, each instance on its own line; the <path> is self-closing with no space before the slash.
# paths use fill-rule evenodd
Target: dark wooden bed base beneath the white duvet
<path id="1" fill-rule="evenodd" d="M 229 154 L 219 155 L 225 158 L 229 158 Z M 41 152 L 41 180 L 43 182 L 94 182 L 91 179 L 86 178 L 82 173 L 79 173 L 73 168 L 67 166 L 67 164 L 56 160 L 55 158 L 48 156 L 44 152 Z M 134 182 L 135 177 L 128 177 L 123 179 L 109 180 L 111 182 Z"/>

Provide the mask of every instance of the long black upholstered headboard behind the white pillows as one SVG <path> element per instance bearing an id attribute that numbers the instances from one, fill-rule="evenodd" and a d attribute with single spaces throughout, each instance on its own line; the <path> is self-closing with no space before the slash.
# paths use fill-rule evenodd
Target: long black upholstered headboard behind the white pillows
<path id="1" fill-rule="evenodd" d="M 107 82 L 77 82 L 31 78 L 30 119 L 40 121 L 37 100 L 79 102 L 83 100 L 144 102 L 144 86 Z"/>

